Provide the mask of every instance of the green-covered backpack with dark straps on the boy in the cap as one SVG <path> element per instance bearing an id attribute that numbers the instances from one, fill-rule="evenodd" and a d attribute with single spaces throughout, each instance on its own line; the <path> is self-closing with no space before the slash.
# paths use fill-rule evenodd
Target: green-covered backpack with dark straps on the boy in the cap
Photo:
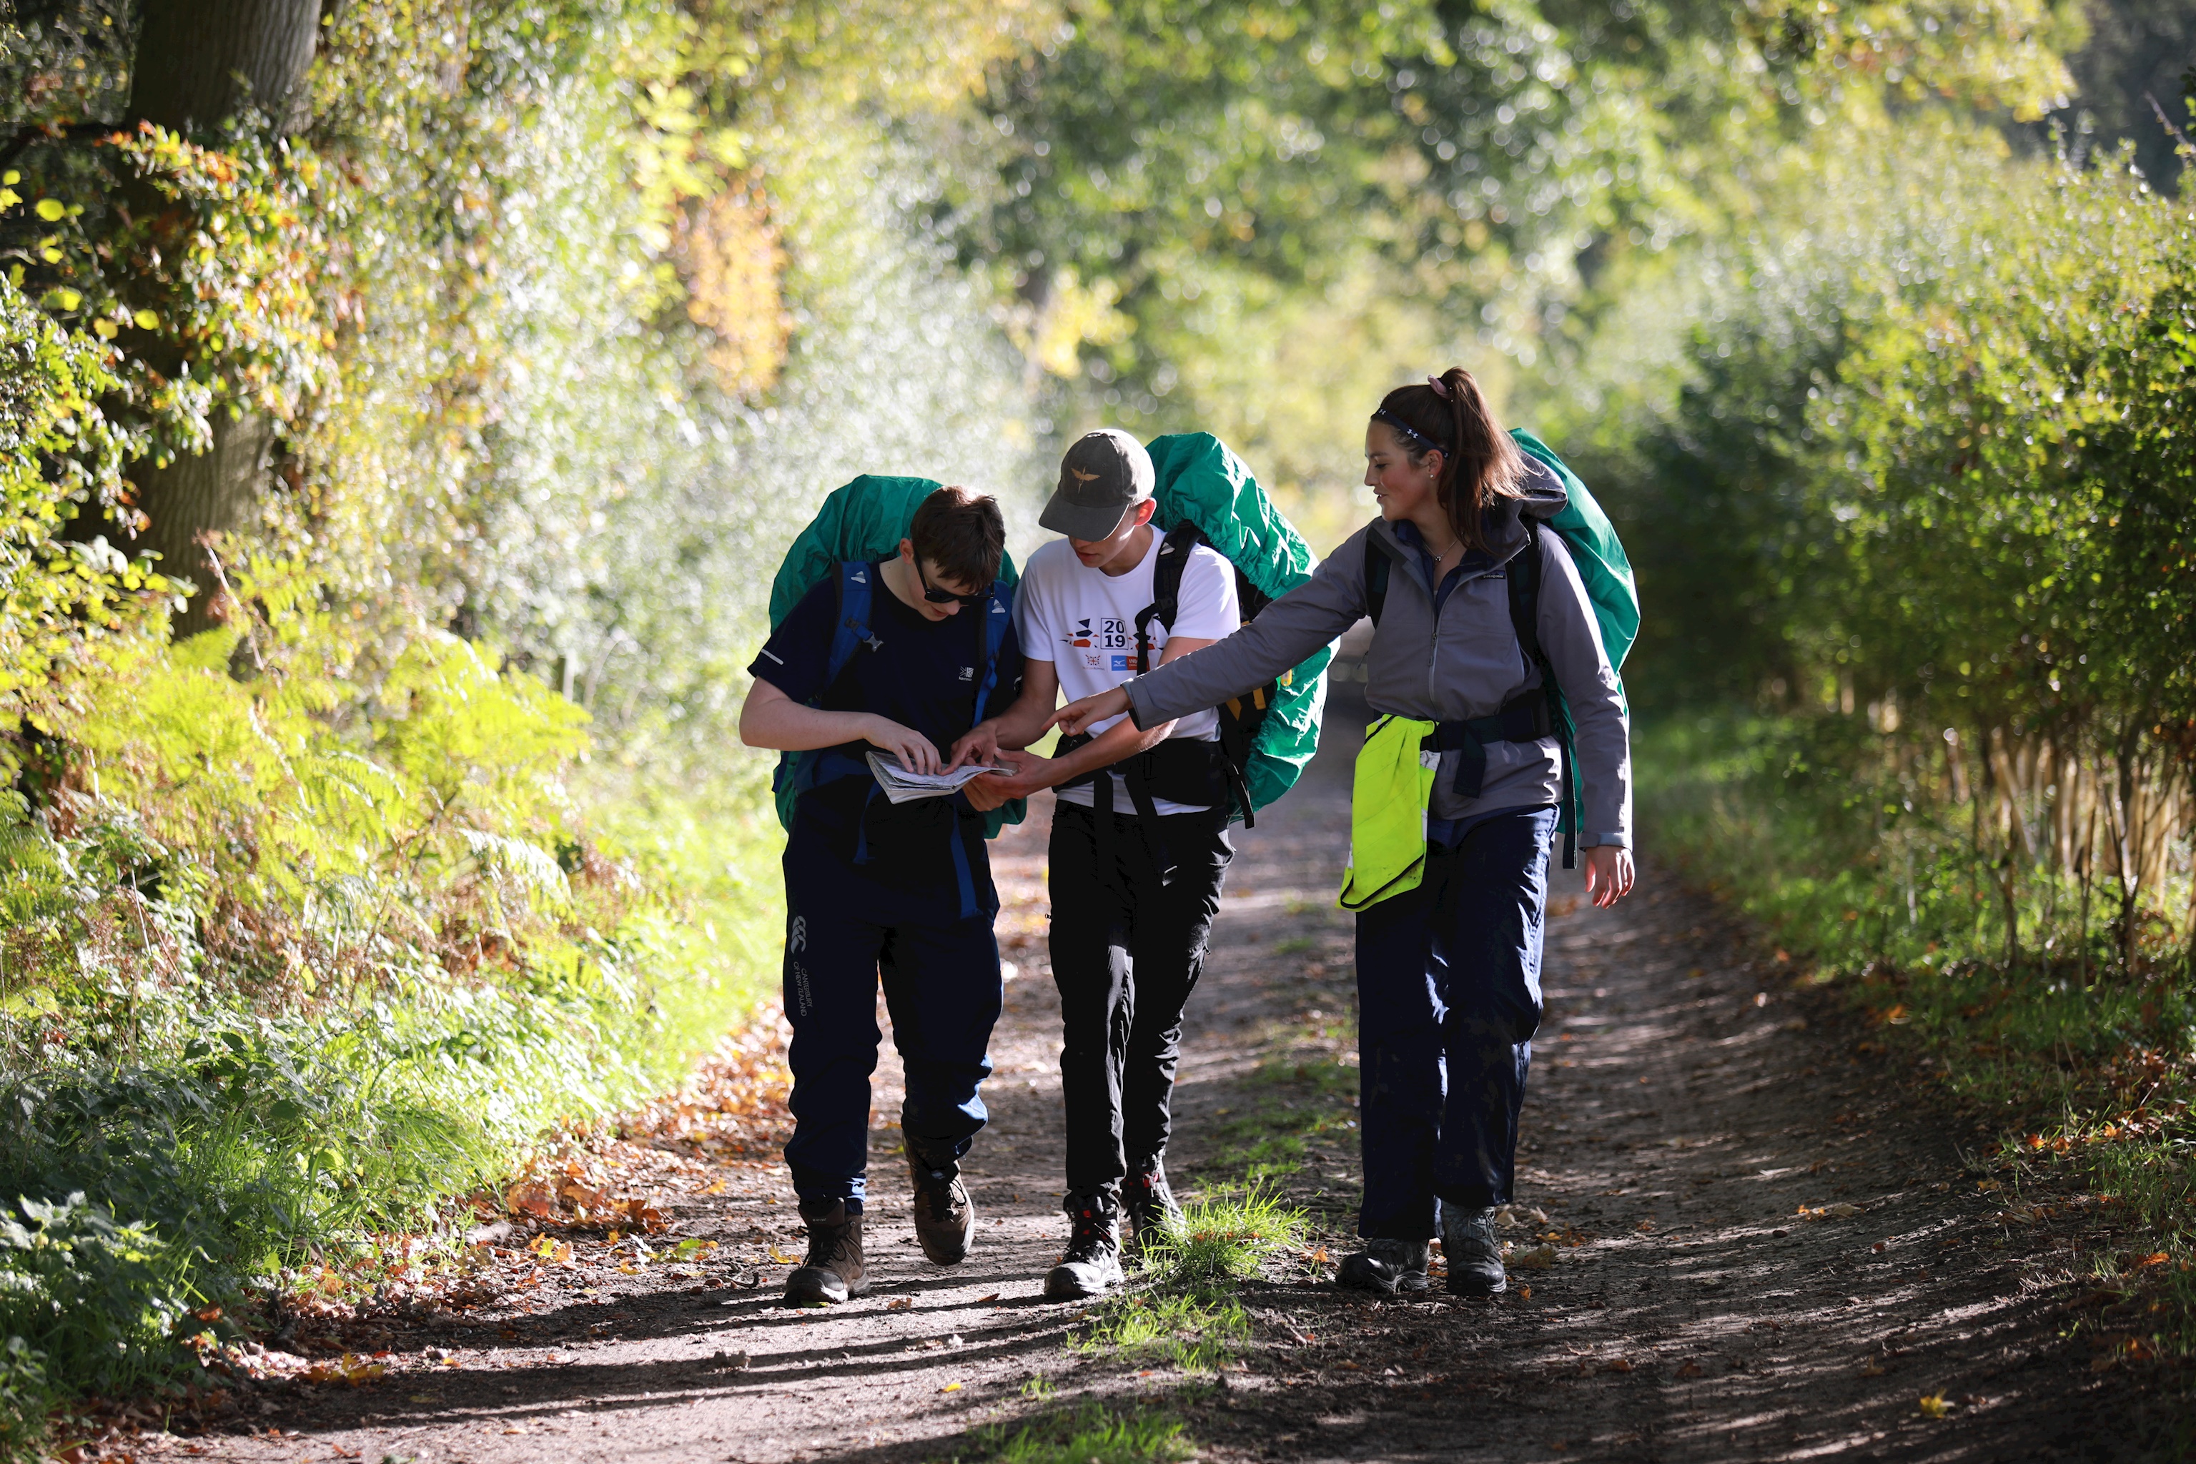
<path id="1" fill-rule="evenodd" d="M 1138 674 L 1151 669 L 1151 623 L 1175 623 L 1181 568 L 1197 544 L 1208 544 L 1234 566 L 1245 623 L 1309 579 L 1313 566 L 1311 547 L 1221 439 L 1210 432 L 1177 432 L 1153 439 L 1146 450 L 1159 505 L 1153 525 L 1166 538 L 1151 575 L 1153 601 L 1135 617 Z M 1221 773 L 1243 827 L 1256 827 L 1256 810 L 1293 788 L 1304 764 L 1320 751 L 1320 707 L 1331 658 L 1333 647 L 1322 647 L 1296 669 L 1214 709 Z"/>

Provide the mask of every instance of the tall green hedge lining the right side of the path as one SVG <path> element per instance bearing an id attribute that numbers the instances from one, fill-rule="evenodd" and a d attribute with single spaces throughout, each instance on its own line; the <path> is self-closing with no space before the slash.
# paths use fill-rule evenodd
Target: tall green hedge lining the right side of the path
<path id="1" fill-rule="evenodd" d="M 1638 448 L 1640 683 L 1829 718 L 1845 775 L 1961 810 L 2007 955 L 2025 880 L 2108 876 L 2132 966 L 2196 770 L 2196 228 L 2126 171 L 1906 143 L 1724 263 Z"/>

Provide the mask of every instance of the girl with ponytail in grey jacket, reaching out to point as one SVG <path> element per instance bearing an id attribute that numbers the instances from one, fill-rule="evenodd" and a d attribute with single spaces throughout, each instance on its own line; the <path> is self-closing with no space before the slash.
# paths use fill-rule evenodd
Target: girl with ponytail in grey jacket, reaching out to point
<path id="1" fill-rule="evenodd" d="M 1381 399 L 1364 481 L 1379 518 L 1311 579 L 1054 722 L 1074 733 L 1127 711 L 1157 727 L 1372 617 L 1375 722 L 1342 893 L 1357 911 L 1366 1249 L 1342 1280 L 1430 1291 L 1438 1223 L 1449 1291 L 1491 1295 L 1506 1286 L 1493 1212 L 1513 1198 L 1557 806 L 1575 777 L 1586 887 L 1614 904 L 1632 889 L 1629 727 L 1579 571 L 1542 527 L 1568 500 L 1564 481 L 1517 448 L 1469 371 Z M 1570 768 L 1550 691 L 1575 729 Z"/>

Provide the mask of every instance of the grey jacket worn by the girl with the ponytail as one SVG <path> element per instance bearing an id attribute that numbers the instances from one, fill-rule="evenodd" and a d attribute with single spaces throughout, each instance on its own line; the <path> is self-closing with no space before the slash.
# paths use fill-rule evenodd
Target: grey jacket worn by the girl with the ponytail
<path id="1" fill-rule="evenodd" d="M 1531 461 L 1531 459 L 1528 459 Z M 1489 525 L 1493 562 L 1467 571 L 1434 619 L 1434 586 L 1419 553 L 1375 518 L 1326 555 L 1311 579 L 1296 586 L 1258 619 L 1212 645 L 1170 661 L 1127 683 L 1138 727 L 1219 707 L 1230 696 L 1265 685 L 1300 665 L 1315 650 L 1355 626 L 1366 606 L 1366 540 L 1392 560 L 1388 599 L 1366 654 L 1366 702 L 1372 711 L 1434 722 L 1484 718 L 1520 691 L 1539 685 L 1509 615 L 1506 564 L 1528 544 L 1524 514 L 1539 520 L 1564 509 L 1561 481 L 1537 472 L 1524 498 L 1502 500 Z M 1632 845 L 1632 731 L 1625 722 L 1616 672 L 1601 645 L 1601 626 L 1564 540 L 1539 533 L 1539 645 L 1570 705 L 1577 727 L 1579 843 Z M 1504 808 L 1550 808 L 1561 799 L 1561 753 L 1555 737 L 1493 742 L 1480 797 L 1456 792 L 1456 757 L 1443 753 L 1434 779 L 1436 819 L 1467 819 Z"/>

